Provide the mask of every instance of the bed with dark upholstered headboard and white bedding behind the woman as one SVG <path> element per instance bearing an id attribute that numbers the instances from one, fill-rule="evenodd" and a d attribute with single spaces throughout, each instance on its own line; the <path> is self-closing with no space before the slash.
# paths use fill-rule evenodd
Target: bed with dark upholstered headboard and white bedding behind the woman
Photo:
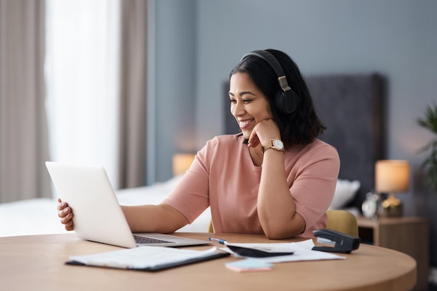
<path id="1" fill-rule="evenodd" d="M 360 214 L 366 193 L 373 189 L 374 164 L 383 158 L 383 79 L 377 74 L 338 74 L 306 77 L 316 108 L 328 129 L 320 136 L 339 150 L 341 168 L 331 209 Z M 228 84 L 223 90 L 224 132 L 239 131 L 228 110 Z M 117 191 L 122 205 L 157 204 L 182 178 L 148 187 Z M 38 198 L 0 204 L 0 237 L 65 233 L 57 219 L 55 199 Z M 183 232 L 205 232 L 209 209 Z"/>

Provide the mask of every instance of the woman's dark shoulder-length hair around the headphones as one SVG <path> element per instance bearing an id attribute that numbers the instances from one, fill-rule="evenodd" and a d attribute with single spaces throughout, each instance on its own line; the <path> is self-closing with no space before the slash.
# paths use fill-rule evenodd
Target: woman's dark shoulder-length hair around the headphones
<path id="1" fill-rule="evenodd" d="M 244 57 L 231 70 L 229 78 L 237 72 L 249 74 L 253 84 L 267 97 L 269 109 L 274 121 L 279 126 L 281 139 L 286 150 L 294 144 L 309 144 L 319 134 L 322 134 L 326 127 L 316 113 L 304 78 L 290 56 L 275 49 L 265 49 L 265 51 L 279 61 L 284 74 L 286 74 L 288 86 L 298 95 L 297 109 L 293 113 L 283 113 L 276 108 L 274 98 L 281 87 L 273 68 L 263 58 L 253 55 Z"/>

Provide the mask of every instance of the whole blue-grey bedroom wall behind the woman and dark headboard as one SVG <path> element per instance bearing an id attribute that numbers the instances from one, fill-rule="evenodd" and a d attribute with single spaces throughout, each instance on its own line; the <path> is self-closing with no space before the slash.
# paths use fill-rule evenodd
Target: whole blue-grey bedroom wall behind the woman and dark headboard
<path id="1" fill-rule="evenodd" d="M 415 122 L 437 100 L 437 1 L 159 0 L 155 6 L 156 162 L 148 164 L 154 180 L 170 178 L 174 152 L 198 150 L 223 133 L 222 83 L 239 58 L 281 49 L 304 75 L 383 74 L 387 158 L 408 159 L 413 171 L 410 191 L 398 196 L 406 215 L 429 217 L 431 244 L 437 243 L 437 193 L 424 187 L 417 154 L 432 136 Z M 434 250 L 431 263 L 437 265 Z"/>

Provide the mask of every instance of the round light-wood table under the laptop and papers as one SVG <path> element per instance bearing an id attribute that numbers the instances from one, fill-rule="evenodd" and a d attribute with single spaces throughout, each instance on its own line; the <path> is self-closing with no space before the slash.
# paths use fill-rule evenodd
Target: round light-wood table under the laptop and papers
<path id="1" fill-rule="evenodd" d="M 209 233 L 176 233 L 207 239 Z M 262 235 L 214 234 L 228 242 L 274 241 Z M 221 245 L 218 245 L 221 246 Z M 195 246 L 191 249 L 206 249 Z M 64 265 L 70 255 L 120 249 L 77 239 L 74 233 L 0 237 L 0 290 L 411 290 L 416 263 L 410 256 L 360 245 L 346 260 L 283 262 L 271 271 L 238 273 L 233 256 L 161 272 Z"/>

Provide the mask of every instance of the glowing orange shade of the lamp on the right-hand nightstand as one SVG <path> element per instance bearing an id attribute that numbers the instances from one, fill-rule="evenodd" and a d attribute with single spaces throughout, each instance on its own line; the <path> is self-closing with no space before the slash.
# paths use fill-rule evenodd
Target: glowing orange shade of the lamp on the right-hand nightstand
<path id="1" fill-rule="evenodd" d="M 375 189 L 380 193 L 405 192 L 410 184 L 408 161 L 383 159 L 375 164 Z"/>

